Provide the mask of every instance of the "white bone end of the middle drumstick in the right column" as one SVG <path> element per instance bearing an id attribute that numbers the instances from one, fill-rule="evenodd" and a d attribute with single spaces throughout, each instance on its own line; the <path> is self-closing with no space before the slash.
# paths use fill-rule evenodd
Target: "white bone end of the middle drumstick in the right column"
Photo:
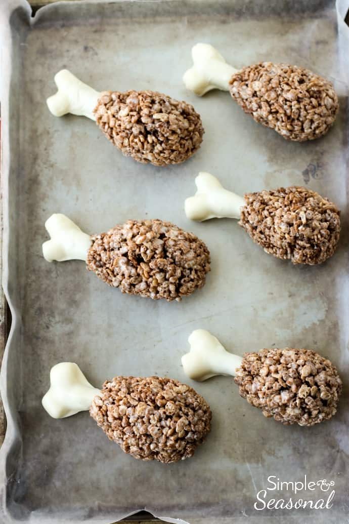
<path id="1" fill-rule="evenodd" d="M 218 178 L 201 172 L 195 179 L 197 192 L 186 199 L 185 214 L 190 220 L 240 219 L 240 209 L 246 204 L 242 196 L 224 189 Z"/>

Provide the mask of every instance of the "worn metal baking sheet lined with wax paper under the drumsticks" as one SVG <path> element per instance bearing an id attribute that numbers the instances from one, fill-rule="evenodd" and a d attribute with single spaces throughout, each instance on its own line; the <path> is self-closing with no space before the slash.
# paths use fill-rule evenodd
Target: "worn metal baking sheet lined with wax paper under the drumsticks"
<path id="1" fill-rule="evenodd" d="M 1 374 L 2 521 L 107 524 L 147 509 L 190 524 L 347 522 L 348 40 L 334 1 L 70 2 L 31 17 L 24 0 L 5 0 L 1 11 L 4 287 L 14 319 Z M 311 143 L 288 143 L 229 94 L 187 92 L 182 74 L 198 41 L 238 68 L 284 61 L 330 78 L 341 104 L 333 129 Z M 193 103 L 206 130 L 201 149 L 183 165 L 144 166 L 123 157 L 93 122 L 54 118 L 45 99 L 63 67 L 97 90 L 153 89 Z M 328 195 L 342 210 L 337 253 L 320 267 L 292 267 L 264 254 L 234 221 L 189 222 L 183 203 L 200 170 L 238 193 L 298 184 Z M 48 264 L 41 243 L 53 212 L 90 233 L 129 218 L 170 220 L 209 246 L 207 284 L 166 303 L 108 288 L 78 261 Z M 77 362 L 96 386 L 116 374 L 188 382 L 181 355 L 196 328 L 239 354 L 291 346 L 327 355 L 345 385 L 339 413 L 313 428 L 284 427 L 241 399 L 229 377 L 193 383 L 211 405 L 212 432 L 193 459 L 164 466 L 123 454 L 87 413 L 53 420 L 43 411 L 49 370 L 62 360 Z M 305 475 L 334 483 L 331 509 L 254 508 L 269 476 L 300 482 Z M 320 484 L 297 496 L 286 488 L 267 494 L 328 496 Z"/>

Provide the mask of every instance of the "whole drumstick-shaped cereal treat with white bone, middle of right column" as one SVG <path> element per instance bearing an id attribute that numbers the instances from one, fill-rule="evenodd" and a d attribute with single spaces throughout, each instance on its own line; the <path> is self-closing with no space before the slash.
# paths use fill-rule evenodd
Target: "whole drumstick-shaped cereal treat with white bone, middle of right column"
<path id="1" fill-rule="evenodd" d="M 294 186 L 247 193 L 227 191 L 216 177 L 201 172 L 197 192 L 185 201 L 190 220 L 228 217 L 266 253 L 294 264 L 321 264 L 337 247 L 341 222 L 335 204 L 315 191 Z"/>

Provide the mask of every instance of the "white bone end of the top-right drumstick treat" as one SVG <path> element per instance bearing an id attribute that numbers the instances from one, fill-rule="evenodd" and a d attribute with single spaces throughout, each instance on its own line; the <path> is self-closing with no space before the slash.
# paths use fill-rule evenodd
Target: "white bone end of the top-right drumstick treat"
<path id="1" fill-rule="evenodd" d="M 227 64 L 222 55 L 209 43 L 197 43 L 192 49 L 194 65 L 183 76 L 185 86 L 202 96 L 211 89 L 229 91 L 229 80 L 237 69 Z"/>

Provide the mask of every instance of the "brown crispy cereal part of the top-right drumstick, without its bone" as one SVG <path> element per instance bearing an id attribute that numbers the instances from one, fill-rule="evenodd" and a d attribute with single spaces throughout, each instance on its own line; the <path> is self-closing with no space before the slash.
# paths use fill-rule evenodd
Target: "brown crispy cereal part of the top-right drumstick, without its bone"
<path id="1" fill-rule="evenodd" d="M 233 74 L 230 93 L 256 122 L 299 142 L 327 133 L 339 107 L 331 82 L 283 63 L 244 67 Z"/>

